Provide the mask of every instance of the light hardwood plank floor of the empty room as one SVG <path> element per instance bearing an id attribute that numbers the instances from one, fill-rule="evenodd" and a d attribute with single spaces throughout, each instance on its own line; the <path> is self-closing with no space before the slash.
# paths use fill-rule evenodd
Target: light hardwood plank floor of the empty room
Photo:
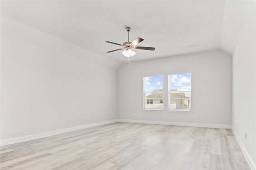
<path id="1" fill-rule="evenodd" d="M 249 170 L 230 129 L 111 123 L 1 147 L 1 170 Z"/>

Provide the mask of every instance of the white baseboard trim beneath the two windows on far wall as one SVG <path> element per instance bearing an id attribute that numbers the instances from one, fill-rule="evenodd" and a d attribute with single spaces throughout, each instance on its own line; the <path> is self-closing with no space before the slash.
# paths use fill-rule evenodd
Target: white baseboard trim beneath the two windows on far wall
<path id="1" fill-rule="evenodd" d="M 145 121 L 145 120 L 133 120 L 133 119 L 117 119 L 118 122 L 126 123 L 144 123 L 144 124 L 156 124 L 156 125 L 175 125 L 175 126 L 191 126 L 191 127 L 212 127 L 231 129 L 231 125 L 221 124 L 208 124 L 208 123 L 186 123 L 186 122 L 171 122 L 171 121 Z"/>

